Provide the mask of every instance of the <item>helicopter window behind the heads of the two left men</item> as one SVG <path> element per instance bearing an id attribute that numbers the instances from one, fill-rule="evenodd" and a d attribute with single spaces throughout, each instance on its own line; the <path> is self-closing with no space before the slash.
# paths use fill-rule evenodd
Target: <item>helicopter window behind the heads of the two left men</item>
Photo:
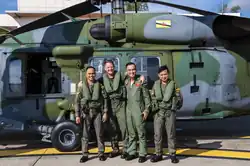
<path id="1" fill-rule="evenodd" d="M 104 61 L 112 60 L 115 64 L 115 70 L 120 71 L 120 62 L 118 58 L 115 57 L 93 57 L 89 61 L 89 65 L 93 66 L 96 69 L 96 79 L 100 78 L 104 72 Z"/>

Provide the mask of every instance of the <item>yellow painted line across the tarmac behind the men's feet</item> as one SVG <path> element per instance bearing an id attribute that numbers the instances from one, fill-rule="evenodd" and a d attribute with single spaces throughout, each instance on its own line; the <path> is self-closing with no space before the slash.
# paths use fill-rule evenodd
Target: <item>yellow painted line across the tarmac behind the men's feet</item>
<path id="1" fill-rule="evenodd" d="M 148 154 L 153 154 L 154 148 L 148 148 Z M 163 149 L 164 154 L 168 154 L 168 149 Z M 105 148 L 105 153 L 112 152 L 111 147 Z M 98 148 L 89 150 L 90 154 L 97 154 Z M 21 156 L 48 156 L 48 155 L 77 155 L 81 151 L 75 152 L 60 152 L 55 148 L 44 149 L 15 149 L 15 150 L 0 150 L 0 157 L 21 157 Z M 243 159 L 250 160 L 250 151 L 234 151 L 220 149 L 198 149 L 198 148 L 178 148 L 177 155 L 192 156 L 192 157 L 208 157 L 208 158 L 223 158 L 223 159 Z"/>

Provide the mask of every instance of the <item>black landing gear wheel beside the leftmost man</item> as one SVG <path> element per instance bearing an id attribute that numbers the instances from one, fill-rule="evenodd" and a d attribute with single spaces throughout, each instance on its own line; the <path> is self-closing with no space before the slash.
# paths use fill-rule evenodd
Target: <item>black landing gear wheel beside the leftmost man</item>
<path id="1" fill-rule="evenodd" d="M 71 121 L 57 124 L 52 131 L 51 142 L 53 147 L 61 152 L 78 150 L 81 145 L 80 127 Z"/>

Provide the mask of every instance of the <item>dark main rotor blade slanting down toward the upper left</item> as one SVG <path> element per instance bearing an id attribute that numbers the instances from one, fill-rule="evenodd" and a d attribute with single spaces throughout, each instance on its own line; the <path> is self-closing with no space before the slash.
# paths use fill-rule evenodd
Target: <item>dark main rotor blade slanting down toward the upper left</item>
<path id="1" fill-rule="evenodd" d="M 43 18 L 40 18 L 36 21 L 33 21 L 29 24 L 26 24 L 20 28 L 17 28 L 11 32 L 9 32 L 12 35 L 18 35 L 20 33 L 24 33 L 27 31 L 31 31 L 37 28 L 43 28 L 43 27 L 47 27 L 49 25 L 54 25 L 63 21 L 68 20 L 67 17 L 65 17 L 65 14 L 71 16 L 71 17 L 78 17 L 78 16 L 82 16 L 85 14 L 89 14 L 92 12 L 96 12 L 100 10 L 99 8 L 97 8 L 96 6 L 92 5 L 90 1 L 85 1 L 79 4 L 76 4 L 74 6 L 65 8 L 63 10 L 60 10 L 58 12 L 52 13 L 48 16 L 45 16 Z"/>

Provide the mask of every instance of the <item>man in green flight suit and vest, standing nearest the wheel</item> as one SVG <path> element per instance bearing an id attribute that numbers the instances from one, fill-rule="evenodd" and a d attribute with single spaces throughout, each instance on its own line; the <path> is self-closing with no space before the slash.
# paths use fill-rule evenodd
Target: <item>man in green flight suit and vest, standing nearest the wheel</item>
<path id="1" fill-rule="evenodd" d="M 95 80 L 95 68 L 89 66 L 86 68 L 86 78 L 83 78 L 78 84 L 78 90 L 75 101 L 76 123 L 80 124 L 83 120 L 82 135 L 82 157 L 80 162 L 88 160 L 88 143 L 91 124 L 94 124 L 99 159 L 105 161 L 105 145 L 103 140 L 103 122 L 107 121 L 107 93 L 104 87 Z"/>

